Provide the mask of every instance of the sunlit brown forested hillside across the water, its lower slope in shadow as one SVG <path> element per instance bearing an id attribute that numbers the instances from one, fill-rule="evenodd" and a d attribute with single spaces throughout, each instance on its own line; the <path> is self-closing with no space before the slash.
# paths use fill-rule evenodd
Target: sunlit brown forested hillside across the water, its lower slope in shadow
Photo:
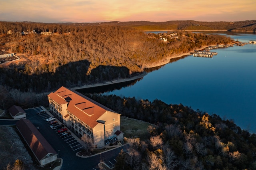
<path id="1" fill-rule="evenodd" d="M 177 31 L 178 38 L 163 42 L 124 26 L 30 22 L 0 22 L 0 34 L 2 52 L 22 59 L 8 67 L 0 65 L 1 85 L 22 93 L 125 79 L 170 56 L 233 42 L 225 36 L 182 31 Z"/>

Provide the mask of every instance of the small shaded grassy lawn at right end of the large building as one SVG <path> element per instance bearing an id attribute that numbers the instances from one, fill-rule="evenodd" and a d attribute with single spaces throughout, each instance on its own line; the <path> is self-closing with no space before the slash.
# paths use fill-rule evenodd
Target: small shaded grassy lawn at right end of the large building
<path id="1" fill-rule="evenodd" d="M 121 127 L 120 130 L 124 132 L 124 137 L 126 138 L 140 138 L 141 140 L 147 140 L 149 137 L 148 126 L 150 123 L 143 121 L 131 119 L 128 117 L 120 117 Z"/>

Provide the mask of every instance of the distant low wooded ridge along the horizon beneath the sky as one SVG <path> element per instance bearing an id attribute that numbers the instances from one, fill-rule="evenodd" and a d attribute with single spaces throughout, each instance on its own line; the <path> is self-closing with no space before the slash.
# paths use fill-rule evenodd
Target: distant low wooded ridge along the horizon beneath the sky
<path id="1" fill-rule="evenodd" d="M 74 24 L 74 23 L 63 23 Z M 97 22 L 97 23 L 75 23 L 83 25 L 111 25 L 111 26 L 128 26 L 143 31 L 152 30 L 226 30 L 226 31 L 256 31 L 256 20 L 246 20 L 237 22 L 200 22 L 193 20 L 186 21 L 166 21 L 166 22 L 149 22 L 149 21 L 130 21 L 130 22 Z"/>

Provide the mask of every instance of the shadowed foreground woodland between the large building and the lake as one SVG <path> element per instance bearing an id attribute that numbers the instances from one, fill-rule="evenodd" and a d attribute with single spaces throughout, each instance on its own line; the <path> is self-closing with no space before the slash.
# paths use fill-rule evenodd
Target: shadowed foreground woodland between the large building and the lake
<path id="1" fill-rule="evenodd" d="M 89 96 L 122 116 L 156 125 L 148 127 L 148 140 L 128 139 L 129 152 L 116 158 L 116 170 L 256 169 L 256 134 L 232 120 L 157 99 Z"/>

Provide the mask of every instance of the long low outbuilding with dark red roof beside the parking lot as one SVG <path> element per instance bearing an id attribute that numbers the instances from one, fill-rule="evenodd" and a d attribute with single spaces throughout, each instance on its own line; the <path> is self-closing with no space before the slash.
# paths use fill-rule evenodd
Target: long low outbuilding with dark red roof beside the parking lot
<path id="1" fill-rule="evenodd" d="M 17 129 L 30 147 L 41 166 L 57 159 L 57 153 L 37 128 L 28 119 L 20 119 L 16 123 Z"/>

